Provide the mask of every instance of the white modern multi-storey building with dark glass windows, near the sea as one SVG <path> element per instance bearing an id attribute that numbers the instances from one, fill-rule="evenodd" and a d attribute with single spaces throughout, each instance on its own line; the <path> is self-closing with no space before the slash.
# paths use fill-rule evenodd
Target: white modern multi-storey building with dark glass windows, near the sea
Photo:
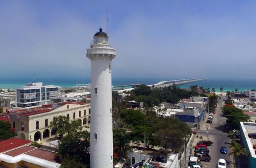
<path id="1" fill-rule="evenodd" d="M 43 85 L 42 82 L 28 83 L 16 88 L 16 106 L 29 108 L 50 103 L 50 97 L 59 95 L 59 86 Z"/>

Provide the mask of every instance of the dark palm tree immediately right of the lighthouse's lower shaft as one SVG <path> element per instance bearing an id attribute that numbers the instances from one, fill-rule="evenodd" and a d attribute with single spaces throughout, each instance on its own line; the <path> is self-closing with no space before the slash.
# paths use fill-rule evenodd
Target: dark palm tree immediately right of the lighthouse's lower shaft
<path id="1" fill-rule="evenodd" d="M 123 161 L 123 159 L 128 160 L 127 152 L 132 151 L 129 145 L 128 135 L 125 133 L 125 129 L 113 128 L 113 152 L 115 157 L 115 163 L 118 161 Z"/>

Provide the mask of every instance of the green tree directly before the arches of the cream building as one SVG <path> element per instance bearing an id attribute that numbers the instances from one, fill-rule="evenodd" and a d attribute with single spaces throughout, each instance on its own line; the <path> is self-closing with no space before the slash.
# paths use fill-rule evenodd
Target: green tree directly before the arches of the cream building
<path id="1" fill-rule="evenodd" d="M 77 130 L 82 130 L 81 120 L 74 120 L 69 122 L 69 118 L 66 116 L 58 116 L 55 120 L 50 122 L 50 128 L 56 128 L 59 139 L 63 138 L 63 135 L 73 134 Z"/>

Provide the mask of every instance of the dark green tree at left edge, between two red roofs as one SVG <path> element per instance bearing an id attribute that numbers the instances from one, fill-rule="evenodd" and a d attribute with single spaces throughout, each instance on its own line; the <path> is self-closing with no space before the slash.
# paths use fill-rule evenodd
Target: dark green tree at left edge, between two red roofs
<path id="1" fill-rule="evenodd" d="M 17 136 L 14 129 L 11 128 L 11 124 L 6 121 L 0 121 L 0 141 L 10 139 Z"/>

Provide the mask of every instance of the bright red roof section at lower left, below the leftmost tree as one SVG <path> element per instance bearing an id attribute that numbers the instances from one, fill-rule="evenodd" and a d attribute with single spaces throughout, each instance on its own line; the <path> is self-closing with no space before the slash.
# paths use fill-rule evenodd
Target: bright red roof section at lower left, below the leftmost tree
<path id="1" fill-rule="evenodd" d="M 32 141 L 30 140 L 25 140 L 25 139 L 20 139 L 20 138 L 10 138 L 7 140 L 3 140 L 0 142 L 0 153 L 14 149 L 19 146 L 23 146 L 26 144 L 30 144 Z"/>

